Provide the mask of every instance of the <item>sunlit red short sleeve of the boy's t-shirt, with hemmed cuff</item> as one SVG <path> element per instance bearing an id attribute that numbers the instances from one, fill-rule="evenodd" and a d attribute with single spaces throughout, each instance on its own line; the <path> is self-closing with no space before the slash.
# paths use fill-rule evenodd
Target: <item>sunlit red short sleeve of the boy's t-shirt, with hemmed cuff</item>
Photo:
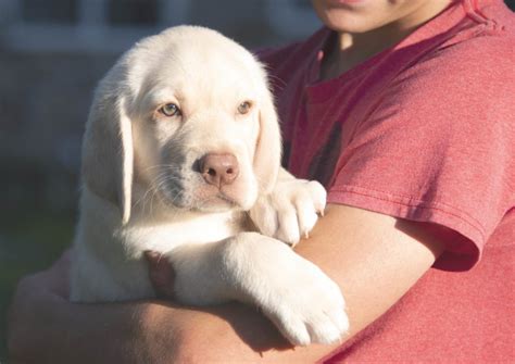
<path id="1" fill-rule="evenodd" d="M 391 83 L 342 150 L 328 194 L 459 233 L 435 263 L 449 271 L 474 266 L 515 205 L 515 64 L 505 50 L 461 47 Z"/>

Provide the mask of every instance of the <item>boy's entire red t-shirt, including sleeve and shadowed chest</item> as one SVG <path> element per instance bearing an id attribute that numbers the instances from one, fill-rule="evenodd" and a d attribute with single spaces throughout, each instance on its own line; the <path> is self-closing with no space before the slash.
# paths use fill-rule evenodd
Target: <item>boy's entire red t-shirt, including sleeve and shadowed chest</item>
<path id="1" fill-rule="evenodd" d="M 328 29 L 260 54 L 294 175 L 325 184 L 329 203 L 459 233 L 326 361 L 515 362 L 514 25 L 500 0 L 457 1 L 325 81 Z"/>

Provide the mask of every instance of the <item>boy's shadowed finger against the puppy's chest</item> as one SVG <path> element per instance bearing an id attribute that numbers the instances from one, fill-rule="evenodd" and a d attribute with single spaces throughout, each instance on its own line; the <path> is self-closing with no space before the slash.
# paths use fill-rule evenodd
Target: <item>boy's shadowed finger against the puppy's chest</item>
<path id="1" fill-rule="evenodd" d="M 159 298 L 174 297 L 174 268 L 162 254 L 146 251 L 145 258 L 149 263 L 149 278 Z"/>

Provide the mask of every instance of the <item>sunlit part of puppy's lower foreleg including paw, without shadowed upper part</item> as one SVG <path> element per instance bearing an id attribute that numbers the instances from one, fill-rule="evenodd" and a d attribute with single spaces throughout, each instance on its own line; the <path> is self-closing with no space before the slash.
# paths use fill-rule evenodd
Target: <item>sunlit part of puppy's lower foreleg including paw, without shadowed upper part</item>
<path id="1" fill-rule="evenodd" d="M 223 261 L 234 299 L 261 307 L 292 344 L 339 342 L 347 334 L 338 285 L 280 241 L 241 233 L 229 240 Z"/>

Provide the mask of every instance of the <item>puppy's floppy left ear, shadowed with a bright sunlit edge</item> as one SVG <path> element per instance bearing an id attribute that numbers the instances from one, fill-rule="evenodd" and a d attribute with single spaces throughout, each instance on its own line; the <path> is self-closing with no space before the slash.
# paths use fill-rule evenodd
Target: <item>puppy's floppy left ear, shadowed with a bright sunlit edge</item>
<path id="1" fill-rule="evenodd" d="M 83 181 L 120 209 L 122 223 L 130 218 L 134 148 L 126 100 L 100 85 L 83 141 Z"/>

